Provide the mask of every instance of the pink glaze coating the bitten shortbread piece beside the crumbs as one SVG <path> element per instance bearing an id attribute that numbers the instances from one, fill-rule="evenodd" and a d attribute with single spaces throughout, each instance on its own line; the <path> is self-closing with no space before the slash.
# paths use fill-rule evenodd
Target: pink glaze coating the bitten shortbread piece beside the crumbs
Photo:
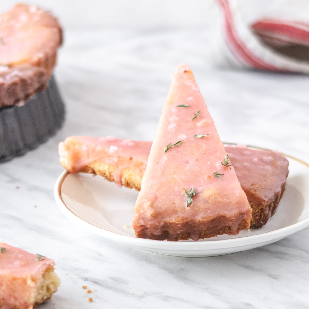
<path id="1" fill-rule="evenodd" d="M 45 269 L 54 261 L 36 254 L 0 243 L 0 308 L 32 309 L 34 293 Z"/>

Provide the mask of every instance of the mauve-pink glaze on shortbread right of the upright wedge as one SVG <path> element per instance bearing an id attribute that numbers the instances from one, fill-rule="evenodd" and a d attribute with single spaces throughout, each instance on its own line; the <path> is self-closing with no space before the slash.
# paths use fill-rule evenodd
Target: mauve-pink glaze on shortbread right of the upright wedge
<path id="1" fill-rule="evenodd" d="M 284 156 L 246 146 L 225 146 L 225 149 L 249 201 L 264 207 L 272 202 L 274 195 L 280 196 L 289 173 L 289 161 Z"/>

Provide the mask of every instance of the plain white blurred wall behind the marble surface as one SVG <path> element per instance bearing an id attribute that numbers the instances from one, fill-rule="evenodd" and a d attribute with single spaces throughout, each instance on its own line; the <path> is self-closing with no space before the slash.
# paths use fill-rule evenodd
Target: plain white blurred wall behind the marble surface
<path id="1" fill-rule="evenodd" d="M 186 28 L 203 27 L 213 0 L 116 0 L 116 1 L 23 1 L 45 8 L 57 16 L 66 29 L 94 28 Z M 1 11 L 16 1 L 2 1 Z"/>

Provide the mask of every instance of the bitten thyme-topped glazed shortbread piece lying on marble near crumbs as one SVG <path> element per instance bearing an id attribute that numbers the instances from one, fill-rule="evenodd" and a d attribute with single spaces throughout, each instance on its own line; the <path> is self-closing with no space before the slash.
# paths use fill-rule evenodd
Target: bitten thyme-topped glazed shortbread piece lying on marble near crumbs
<path id="1" fill-rule="evenodd" d="M 54 261 L 0 243 L 0 308 L 32 309 L 50 299 L 60 279 Z"/>

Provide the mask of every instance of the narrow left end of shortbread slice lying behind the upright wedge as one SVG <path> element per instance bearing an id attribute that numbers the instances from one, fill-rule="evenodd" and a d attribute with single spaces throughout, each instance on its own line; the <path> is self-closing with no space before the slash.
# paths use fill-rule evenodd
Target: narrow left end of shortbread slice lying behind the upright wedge
<path id="1" fill-rule="evenodd" d="M 112 136 L 73 136 L 59 144 L 61 165 L 70 173 L 94 173 L 114 181 L 117 187 L 140 189 L 151 142 Z"/>

